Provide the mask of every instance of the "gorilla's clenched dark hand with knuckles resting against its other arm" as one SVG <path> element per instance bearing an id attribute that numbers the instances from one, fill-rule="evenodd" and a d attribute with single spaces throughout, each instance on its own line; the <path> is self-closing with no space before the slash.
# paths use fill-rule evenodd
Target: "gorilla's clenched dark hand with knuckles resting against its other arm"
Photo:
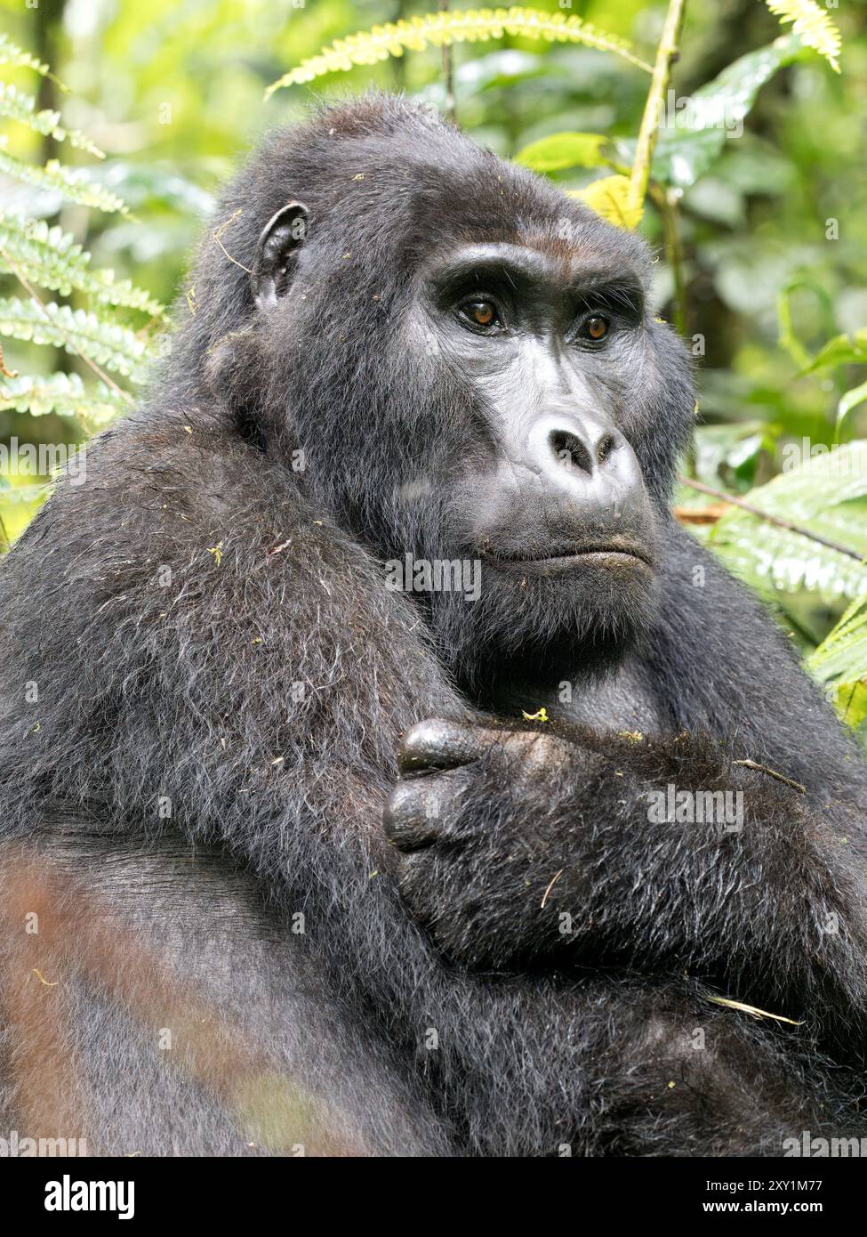
<path id="1" fill-rule="evenodd" d="M 430 720 L 404 736 L 386 834 L 404 899 L 448 956 L 519 967 L 547 951 L 538 884 L 557 867 L 537 818 L 574 764 L 571 745 L 538 727 Z"/>

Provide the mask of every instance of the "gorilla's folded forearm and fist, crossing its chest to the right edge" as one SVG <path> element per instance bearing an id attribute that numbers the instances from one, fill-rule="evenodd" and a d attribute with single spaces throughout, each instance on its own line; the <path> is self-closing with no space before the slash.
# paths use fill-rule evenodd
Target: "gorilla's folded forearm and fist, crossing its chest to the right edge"
<path id="1" fill-rule="evenodd" d="M 710 741 L 560 726 L 423 722 L 402 769 L 402 891 L 449 956 L 689 969 L 863 1053 L 863 873 L 793 787 Z M 742 826 L 659 823 L 648 792 L 669 785 L 742 792 Z"/>

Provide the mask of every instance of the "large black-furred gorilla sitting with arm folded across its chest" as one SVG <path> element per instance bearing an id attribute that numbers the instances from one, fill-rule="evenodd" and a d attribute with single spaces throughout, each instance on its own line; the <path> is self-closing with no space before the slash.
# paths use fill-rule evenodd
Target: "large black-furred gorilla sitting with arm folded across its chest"
<path id="1" fill-rule="evenodd" d="M 2 564 L 1 1128 L 867 1134 L 865 767 L 669 515 L 649 270 L 399 99 L 241 172 L 150 398 Z"/>

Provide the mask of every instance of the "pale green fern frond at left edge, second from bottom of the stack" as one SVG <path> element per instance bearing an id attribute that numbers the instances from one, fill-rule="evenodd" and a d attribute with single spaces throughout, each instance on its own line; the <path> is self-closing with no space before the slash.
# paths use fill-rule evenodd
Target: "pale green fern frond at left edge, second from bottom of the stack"
<path id="1" fill-rule="evenodd" d="M 64 348 L 73 356 L 80 354 L 134 381 L 142 380 L 146 345 L 127 327 L 54 302 L 45 308 L 47 313 L 35 301 L 17 297 L 0 299 L 0 335 Z"/>

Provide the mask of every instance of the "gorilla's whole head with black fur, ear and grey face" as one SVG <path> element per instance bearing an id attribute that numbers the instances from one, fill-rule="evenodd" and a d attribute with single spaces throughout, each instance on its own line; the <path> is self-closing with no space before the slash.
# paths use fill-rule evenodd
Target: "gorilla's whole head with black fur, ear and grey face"
<path id="1" fill-rule="evenodd" d="M 237 184 L 235 263 L 207 255 L 187 332 L 215 397 L 406 588 L 429 565 L 461 685 L 611 666 L 694 406 L 643 244 L 393 99 L 277 136 Z"/>

